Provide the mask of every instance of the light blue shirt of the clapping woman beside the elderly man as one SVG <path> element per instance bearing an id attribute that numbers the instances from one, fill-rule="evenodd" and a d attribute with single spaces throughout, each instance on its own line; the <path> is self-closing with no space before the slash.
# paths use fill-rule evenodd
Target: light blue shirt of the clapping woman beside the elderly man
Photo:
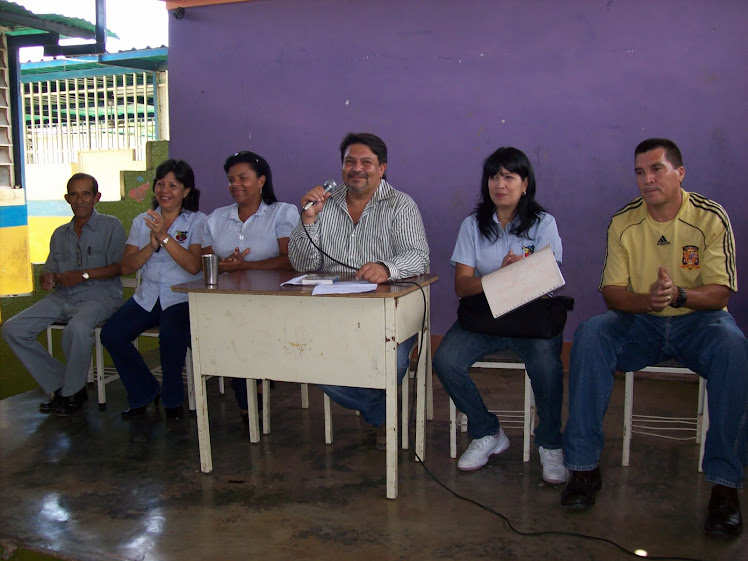
<path id="1" fill-rule="evenodd" d="M 156 212 L 161 214 L 161 207 Z M 150 243 L 151 230 L 146 226 L 145 216 L 144 212 L 132 221 L 127 245 L 142 249 Z M 202 246 L 205 218 L 203 212 L 183 210 L 169 228 L 169 236 L 172 238 L 169 243 L 176 242 L 185 249 L 195 244 Z M 140 286 L 133 298 L 144 310 L 151 311 L 157 300 L 161 302 L 161 309 L 165 310 L 174 304 L 187 302 L 187 294 L 173 292 L 173 285 L 201 279 L 202 275 L 202 272 L 191 275 L 182 269 L 169 252 L 162 248 L 151 255 L 140 269 Z"/>

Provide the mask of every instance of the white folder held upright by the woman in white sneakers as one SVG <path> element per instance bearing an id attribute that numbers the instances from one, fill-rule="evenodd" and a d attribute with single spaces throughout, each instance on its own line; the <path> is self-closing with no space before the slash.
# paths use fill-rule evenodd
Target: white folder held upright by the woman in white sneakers
<path id="1" fill-rule="evenodd" d="M 481 277 L 483 292 L 497 318 L 566 284 L 551 246 Z"/>

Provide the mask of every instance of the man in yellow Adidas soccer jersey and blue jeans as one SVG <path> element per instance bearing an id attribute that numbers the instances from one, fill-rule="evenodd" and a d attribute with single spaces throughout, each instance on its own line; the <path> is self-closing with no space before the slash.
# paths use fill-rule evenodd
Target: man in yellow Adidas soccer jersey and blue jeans
<path id="1" fill-rule="evenodd" d="M 737 291 L 730 220 L 717 203 L 681 188 L 680 150 L 651 138 L 637 146 L 641 197 L 612 218 L 600 291 L 608 312 L 574 335 L 561 503 L 592 506 L 602 486 L 602 420 L 615 370 L 677 359 L 707 381 L 710 429 L 703 469 L 714 484 L 704 529 L 737 536 L 748 444 L 748 341 L 727 312 Z"/>

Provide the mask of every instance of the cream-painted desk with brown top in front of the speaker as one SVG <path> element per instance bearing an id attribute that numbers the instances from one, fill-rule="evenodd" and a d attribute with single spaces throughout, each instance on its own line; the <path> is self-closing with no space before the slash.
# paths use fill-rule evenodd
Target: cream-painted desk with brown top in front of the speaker
<path id="1" fill-rule="evenodd" d="M 312 287 L 284 286 L 294 273 L 242 271 L 219 276 L 218 286 L 192 281 L 189 293 L 200 468 L 213 469 L 205 380 L 241 377 L 248 383 L 250 441 L 259 442 L 257 379 L 386 390 L 387 498 L 397 497 L 397 344 L 421 331 L 429 340 L 430 285 L 384 284 L 364 294 L 312 296 Z M 429 345 L 425 345 L 429 348 Z M 416 452 L 424 457 L 426 368 L 416 376 Z"/>

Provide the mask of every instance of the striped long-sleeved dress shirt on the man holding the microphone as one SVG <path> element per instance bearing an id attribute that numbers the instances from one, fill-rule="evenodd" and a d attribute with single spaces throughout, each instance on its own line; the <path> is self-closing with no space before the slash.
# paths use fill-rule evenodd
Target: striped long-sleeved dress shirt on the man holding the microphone
<path id="1" fill-rule="evenodd" d="M 390 280 L 420 275 L 429 270 L 429 246 L 421 213 L 415 201 L 384 179 L 354 224 L 346 203 L 348 188 L 333 190 L 314 224 L 299 221 L 288 245 L 288 256 L 297 271 L 351 273 L 366 263 L 381 263 Z M 305 232 L 306 229 L 306 232 Z M 325 253 L 353 268 L 323 256 Z"/>

